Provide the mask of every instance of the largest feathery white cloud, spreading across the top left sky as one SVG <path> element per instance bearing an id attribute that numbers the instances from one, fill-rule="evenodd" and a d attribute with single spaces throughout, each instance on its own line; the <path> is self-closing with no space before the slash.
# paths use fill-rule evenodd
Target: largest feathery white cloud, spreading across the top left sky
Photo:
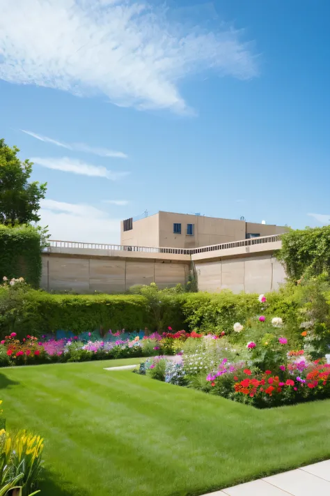
<path id="1" fill-rule="evenodd" d="M 0 78 L 8 82 L 187 112 L 178 89 L 187 75 L 258 74 L 242 31 L 170 22 L 165 8 L 146 2 L 0 0 L 0 13 Z"/>

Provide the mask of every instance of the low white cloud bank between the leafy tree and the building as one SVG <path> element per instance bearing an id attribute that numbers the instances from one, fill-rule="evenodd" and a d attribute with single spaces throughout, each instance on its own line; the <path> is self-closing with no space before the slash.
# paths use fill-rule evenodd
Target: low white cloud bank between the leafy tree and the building
<path id="1" fill-rule="evenodd" d="M 49 226 L 51 239 L 82 243 L 120 243 L 120 219 L 95 206 L 43 200 L 40 225 Z"/>

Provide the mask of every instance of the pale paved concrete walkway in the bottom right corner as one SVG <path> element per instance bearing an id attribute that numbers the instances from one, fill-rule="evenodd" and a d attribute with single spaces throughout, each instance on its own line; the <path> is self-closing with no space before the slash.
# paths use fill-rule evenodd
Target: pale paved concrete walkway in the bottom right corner
<path id="1" fill-rule="evenodd" d="M 204 496 L 325 496 L 330 495 L 330 460 L 272 475 Z"/>

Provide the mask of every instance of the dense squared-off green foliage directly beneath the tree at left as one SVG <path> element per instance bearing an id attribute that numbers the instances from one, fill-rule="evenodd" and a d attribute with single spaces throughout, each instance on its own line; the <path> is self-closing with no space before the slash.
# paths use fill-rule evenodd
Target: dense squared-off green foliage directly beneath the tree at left
<path id="1" fill-rule="evenodd" d="M 6 227 L 0 224 L 0 282 L 3 276 L 23 277 L 31 286 L 39 287 L 41 243 L 42 240 L 45 243 L 45 236 L 45 231 L 31 225 Z"/>

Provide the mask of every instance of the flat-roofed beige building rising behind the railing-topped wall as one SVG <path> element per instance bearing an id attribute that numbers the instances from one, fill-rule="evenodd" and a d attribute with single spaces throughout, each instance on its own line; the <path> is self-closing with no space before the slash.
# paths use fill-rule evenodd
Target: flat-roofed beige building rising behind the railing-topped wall
<path id="1" fill-rule="evenodd" d="M 159 211 L 140 220 L 123 220 L 120 226 L 120 244 L 156 248 L 198 248 L 272 236 L 288 230 L 288 227 L 249 223 L 245 220 Z"/>

